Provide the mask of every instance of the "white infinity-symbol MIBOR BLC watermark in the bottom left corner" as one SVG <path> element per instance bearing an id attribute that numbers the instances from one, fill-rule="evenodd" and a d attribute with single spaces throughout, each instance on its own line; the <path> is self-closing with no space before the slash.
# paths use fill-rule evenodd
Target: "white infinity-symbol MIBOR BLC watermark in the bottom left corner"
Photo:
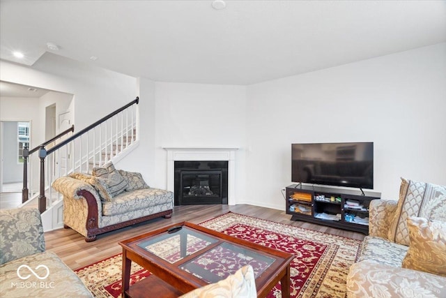
<path id="1" fill-rule="evenodd" d="M 11 287 L 20 289 L 54 288 L 54 281 L 51 281 L 49 283 L 46 281 L 25 281 L 26 279 L 31 277 L 31 274 L 33 276 L 36 276 L 36 278 L 40 280 L 44 280 L 49 276 L 49 268 L 46 265 L 38 265 L 38 267 L 32 269 L 28 265 L 20 265 L 17 268 L 17 276 L 23 281 L 19 281 L 17 283 L 11 282 Z"/>

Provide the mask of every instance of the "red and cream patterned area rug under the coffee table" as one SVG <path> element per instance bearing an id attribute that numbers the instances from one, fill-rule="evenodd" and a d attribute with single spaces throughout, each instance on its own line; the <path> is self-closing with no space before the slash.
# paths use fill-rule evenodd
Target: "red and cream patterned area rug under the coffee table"
<path id="1" fill-rule="evenodd" d="M 201 223 L 233 237 L 293 253 L 291 297 L 345 297 L 348 268 L 361 241 L 229 212 Z M 121 297 L 121 254 L 75 272 L 95 297 Z M 130 284 L 150 273 L 132 263 Z M 268 297 L 282 297 L 277 284 Z"/>

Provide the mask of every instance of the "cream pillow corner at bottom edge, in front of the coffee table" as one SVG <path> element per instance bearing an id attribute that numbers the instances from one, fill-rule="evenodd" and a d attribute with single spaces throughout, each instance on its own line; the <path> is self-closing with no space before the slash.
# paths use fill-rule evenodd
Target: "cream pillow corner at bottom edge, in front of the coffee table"
<path id="1" fill-rule="evenodd" d="M 252 267 L 250 265 L 246 265 L 222 281 L 205 285 L 203 288 L 198 288 L 188 292 L 179 298 L 206 297 L 257 297 L 256 280 L 254 278 L 254 271 Z"/>

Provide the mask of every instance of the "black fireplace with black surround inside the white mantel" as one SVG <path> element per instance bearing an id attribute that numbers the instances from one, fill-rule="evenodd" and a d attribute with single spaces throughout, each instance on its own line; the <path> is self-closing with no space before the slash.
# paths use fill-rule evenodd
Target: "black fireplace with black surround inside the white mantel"
<path id="1" fill-rule="evenodd" d="M 175 161 L 175 206 L 228 204 L 227 161 Z"/>

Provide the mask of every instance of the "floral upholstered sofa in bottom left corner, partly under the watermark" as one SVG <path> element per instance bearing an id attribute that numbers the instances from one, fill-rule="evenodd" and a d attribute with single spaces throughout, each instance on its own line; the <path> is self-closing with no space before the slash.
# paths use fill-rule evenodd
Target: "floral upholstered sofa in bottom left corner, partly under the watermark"
<path id="1" fill-rule="evenodd" d="M 0 211 L 0 297 L 93 297 L 62 260 L 45 251 L 40 212 Z"/>

